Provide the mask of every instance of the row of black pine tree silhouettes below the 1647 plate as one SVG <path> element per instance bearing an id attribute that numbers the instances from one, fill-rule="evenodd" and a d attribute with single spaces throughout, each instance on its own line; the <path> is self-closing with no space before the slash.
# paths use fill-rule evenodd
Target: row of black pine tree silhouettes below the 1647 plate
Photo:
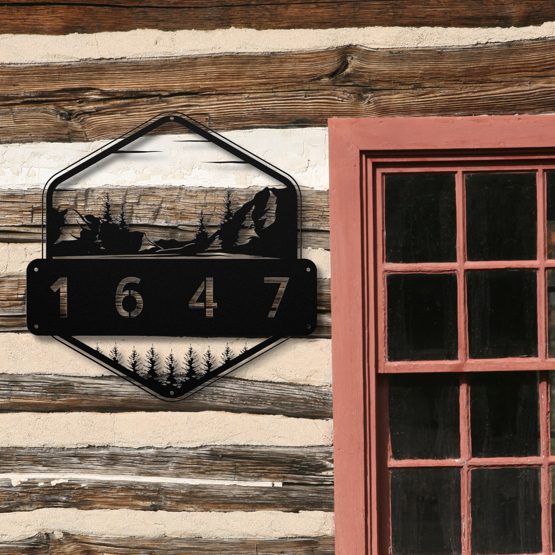
<path id="1" fill-rule="evenodd" d="M 96 350 L 102 353 L 98 345 Z M 247 346 L 245 344 L 240 351 L 241 354 L 246 350 Z M 117 362 L 117 364 L 124 364 L 123 354 L 119 350 L 117 344 L 114 344 L 108 356 L 114 362 Z M 152 345 L 145 354 L 145 360 L 143 362 L 139 352 L 135 349 L 135 346 L 133 346 L 133 351 L 127 358 L 127 367 L 133 370 L 133 372 L 137 372 L 137 374 L 144 379 L 150 378 L 159 381 L 162 385 L 179 388 L 186 380 L 198 380 L 208 372 L 215 370 L 218 366 L 226 364 L 233 359 L 233 357 L 233 350 L 231 350 L 229 344 L 226 344 L 220 356 L 220 364 L 218 364 L 218 360 L 216 360 L 210 346 L 204 351 L 199 361 L 195 349 L 193 349 L 193 346 L 189 345 L 189 349 L 185 351 L 182 361 L 178 360 L 173 354 L 173 351 L 170 351 L 170 354 L 166 356 L 164 362 L 161 362 L 160 355 L 154 349 L 154 345 Z"/>

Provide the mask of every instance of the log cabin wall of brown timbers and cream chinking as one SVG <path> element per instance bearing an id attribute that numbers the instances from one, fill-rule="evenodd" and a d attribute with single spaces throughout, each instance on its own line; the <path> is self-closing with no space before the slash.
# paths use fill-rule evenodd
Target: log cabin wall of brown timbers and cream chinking
<path id="1" fill-rule="evenodd" d="M 541 0 L 4 2 L 0 552 L 333 553 L 327 118 L 552 112 L 554 22 Z M 45 181 L 164 110 L 295 176 L 303 256 L 319 271 L 310 339 L 176 403 L 24 327 Z M 152 181 L 133 183 L 148 189 L 150 228 L 194 221 L 194 203 Z M 127 354 L 125 338 L 99 347 L 115 340 Z"/>

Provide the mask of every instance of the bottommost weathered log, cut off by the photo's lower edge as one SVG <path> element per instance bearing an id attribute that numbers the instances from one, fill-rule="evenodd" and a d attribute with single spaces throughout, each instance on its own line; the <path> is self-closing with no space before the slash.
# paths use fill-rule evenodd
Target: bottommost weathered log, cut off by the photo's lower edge
<path id="1" fill-rule="evenodd" d="M 93 538 L 37 534 L 2 542 L 6 555 L 334 555 L 334 538 Z"/>

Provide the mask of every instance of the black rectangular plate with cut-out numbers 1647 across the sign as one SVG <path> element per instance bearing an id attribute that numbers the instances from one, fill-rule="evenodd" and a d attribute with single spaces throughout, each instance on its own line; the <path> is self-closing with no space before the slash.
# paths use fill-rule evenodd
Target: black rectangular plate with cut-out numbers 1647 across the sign
<path id="1" fill-rule="evenodd" d="M 316 327 L 316 268 L 310 260 L 34 260 L 27 299 L 36 335 L 302 336 Z"/>

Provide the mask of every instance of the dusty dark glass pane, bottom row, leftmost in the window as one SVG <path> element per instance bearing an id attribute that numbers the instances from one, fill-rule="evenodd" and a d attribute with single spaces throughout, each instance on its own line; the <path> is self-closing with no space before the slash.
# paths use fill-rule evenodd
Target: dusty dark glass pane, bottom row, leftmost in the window
<path id="1" fill-rule="evenodd" d="M 393 555 L 461 553 L 460 468 L 391 470 Z"/>

